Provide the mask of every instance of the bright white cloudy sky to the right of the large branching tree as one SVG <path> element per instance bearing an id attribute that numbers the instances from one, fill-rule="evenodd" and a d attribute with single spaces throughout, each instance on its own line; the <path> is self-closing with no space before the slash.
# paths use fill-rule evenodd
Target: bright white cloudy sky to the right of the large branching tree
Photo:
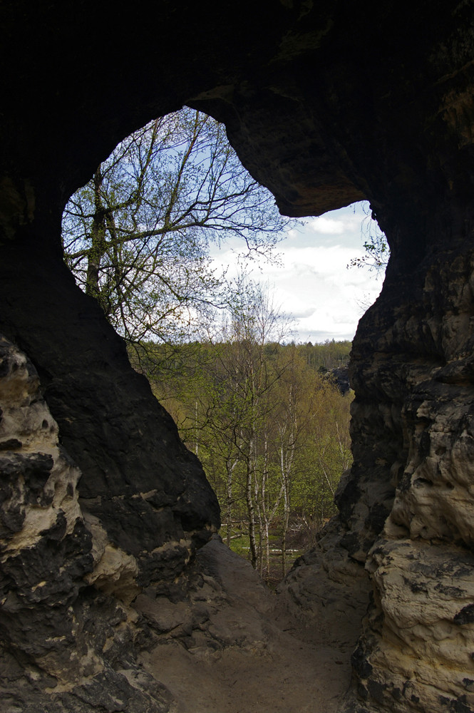
<path id="1" fill-rule="evenodd" d="M 332 210 L 290 230 L 279 243 L 279 265 L 261 260 L 249 276 L 268 284 L 274 304 L 291 315 L 295 342 L 353 339 L 362 314 L 378 297 L 383 275 L 368 267 L 349 267 L 364 255 L 370 217 L 366 204 Z M 237 275 L 232 247 L 211 252 L 215 267 Z"/>

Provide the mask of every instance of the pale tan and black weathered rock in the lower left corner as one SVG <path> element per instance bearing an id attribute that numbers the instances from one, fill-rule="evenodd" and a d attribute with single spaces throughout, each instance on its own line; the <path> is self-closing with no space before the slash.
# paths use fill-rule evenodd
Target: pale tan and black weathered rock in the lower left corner
<path id="1" fill-rule="evenodd" d="M 3 337 L 0 414 L 2 710 L 167 711 L 135 662 L 138 562 L 81 509 L 36 369 Z"/>

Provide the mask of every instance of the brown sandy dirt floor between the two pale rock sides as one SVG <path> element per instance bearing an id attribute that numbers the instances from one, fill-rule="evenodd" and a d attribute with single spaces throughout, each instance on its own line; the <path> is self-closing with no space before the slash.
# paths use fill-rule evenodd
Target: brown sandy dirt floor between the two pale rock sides
<path id="1" fill-rule="evenodd" d="M 349 686 L 361 602 L 353 590 L 352 605 L 331 606 L 318 553 L 308 556 L 304 577 L 296 568 L 272 593 L 216 538 L 197 555 L 186 602 L 138 597 L 136 608 L 156 632 L 141 663 L 170 692 L 170 710 L 336 712 Z M 311 568 L 321 593 L 326 581 L 325 602 L 309 592 Z"/>

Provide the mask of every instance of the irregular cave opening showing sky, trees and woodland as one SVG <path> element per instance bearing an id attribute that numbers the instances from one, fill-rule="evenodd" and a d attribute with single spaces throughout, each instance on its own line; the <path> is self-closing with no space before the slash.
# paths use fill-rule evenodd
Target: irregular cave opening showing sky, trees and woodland
<path id="1" fill-rule="evenodd" d="M 369 204 L 285 219 L 225 128 L 185 107 L 98 165 L 66 204 L 62 243 L 200 457 L 220 535 L 275 585 L 336 513 L 351 465 L 349 352 L 387 251 Z"/>

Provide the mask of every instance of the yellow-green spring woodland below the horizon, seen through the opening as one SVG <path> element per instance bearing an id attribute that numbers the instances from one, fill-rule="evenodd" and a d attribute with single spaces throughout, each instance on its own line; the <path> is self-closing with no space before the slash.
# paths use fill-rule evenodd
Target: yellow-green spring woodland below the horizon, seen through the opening
<path id="1" fill-rule="evenodd" d="M 283 572 L 292 541 L 308 545 L 336 512 L 334 492 L 351 465 L 351 395 L 342 396 L 319 365 L 339 366 L 351 345 L 266 339 L 276 315 L 268 304 L 247 307 L 239 305 L 225 339 L 192 345 L 204 368 L 175 372 L 172 381 L 155 371 L 151 381 L 217 493 L 223 537 L 269 576 L 272 538 Z M 189 346 L 177 347 L 177 363 L 187 363 Z M 245 540 L 235 537 L 242 523 Z"/>

